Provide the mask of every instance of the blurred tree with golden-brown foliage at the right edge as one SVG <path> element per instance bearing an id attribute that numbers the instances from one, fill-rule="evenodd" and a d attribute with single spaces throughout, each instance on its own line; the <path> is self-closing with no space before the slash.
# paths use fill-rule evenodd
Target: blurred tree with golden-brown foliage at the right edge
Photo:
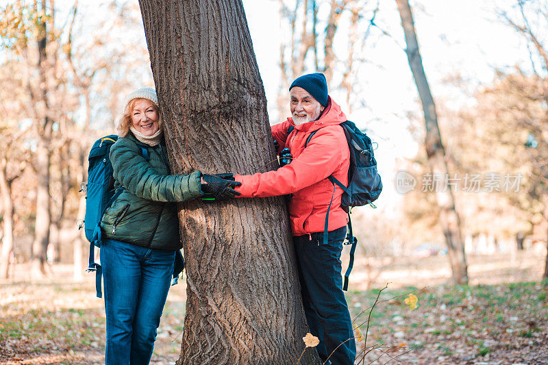
<path id="1" fill-rule="evenodd" d="M 470 141 L 472 149 L 477 145 L 474 149 L 476 163 L 484 166 L 484 171 L 521 176 L 519 184 L 510 189 L 501 181 L 497 194 L 510 207 L 487 214 L 478 225 L 486 224 L 489 216 L 497 214 L 501 222 L 492 225 L 498 227 L 506 221 L 506 229 L 513 229 L 513 235 L 525 231 L 540 236 L 540 229 L 544 232 L 548 229 L 548 169 L 545 164 L 548 147 L 542 142 L 548 128 L 547 95 L 546 81 L 536 75 L 524 75 L 520 71 L 499 74 L 493 85 L 477 90 L 474 95 L 476 106 L 462 112 L 464 125 L 475 134 Z M 507 216 L 519 216 L 522 223 L 509 225 Z M 504 231 L 505 227 L 499 229 Z M 541 236 L 548 240 L 546 233 Z"/>

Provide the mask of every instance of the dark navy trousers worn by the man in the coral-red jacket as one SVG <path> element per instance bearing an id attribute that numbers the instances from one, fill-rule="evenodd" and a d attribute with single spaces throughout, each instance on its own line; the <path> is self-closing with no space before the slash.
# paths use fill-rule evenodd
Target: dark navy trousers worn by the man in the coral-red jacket
<path id="1" fill-rule="evenodd" d="M 316 349 L 323 362 L 336 349 L 329 357 L 333 365 L 352 365 L 356 359 L 356 342 L 349 340 L 354 334 L 340 274 L 346 231 L 347 227 L 330 231 L 326 244 L 323 232 L 312 234 L 312 239 L 308 235 L 293 237 L 306 321 L 310 333 L 320 340 Z"/>

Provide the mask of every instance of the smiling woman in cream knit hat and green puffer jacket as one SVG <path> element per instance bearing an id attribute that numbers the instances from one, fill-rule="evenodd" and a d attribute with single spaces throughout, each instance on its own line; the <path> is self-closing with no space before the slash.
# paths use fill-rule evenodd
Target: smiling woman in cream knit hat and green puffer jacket
<path id="1" fill-rule="evenodd" d="M 121 193 L 101 219 L 106 364 L 149 364 L 181 249 L 175 202 L 234 197 L 239 183 L 216 175 L 169 175 L 158 99 L 140 88 L 126 100 L 110 160 Z M 121 188 L 123 187 L 123 188 Z M 105 238 L 105 239 L 104 239 Z"/>

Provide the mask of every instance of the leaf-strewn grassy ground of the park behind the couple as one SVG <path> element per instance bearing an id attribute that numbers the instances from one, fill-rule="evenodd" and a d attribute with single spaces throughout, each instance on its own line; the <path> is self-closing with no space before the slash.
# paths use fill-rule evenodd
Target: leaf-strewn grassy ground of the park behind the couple
<path id="1" fill-rule="evenodd" d="M 358 262 L 351 275 L 347 301 L 363 334 L 381 291 L 367 338 L 358 338 L 358 353 L 371 351 L 356 364 L 548 364 L 542 255 L 469 257 L 471 286 L 443 284 L 447 257 L 390 261 Z M 0 364 L 103 364 L 105 311 L 94 276 L 64 279 L 72 275 L 68 265 L 38 281 L 22 280 L 25 273 L 18 265 L 16 281 L 0 282 Z M 408 294 L 417 309 L 404 302 Z M 169 292 L 151 364 L 179 357 L 185 299 L 182 280 Z"/>

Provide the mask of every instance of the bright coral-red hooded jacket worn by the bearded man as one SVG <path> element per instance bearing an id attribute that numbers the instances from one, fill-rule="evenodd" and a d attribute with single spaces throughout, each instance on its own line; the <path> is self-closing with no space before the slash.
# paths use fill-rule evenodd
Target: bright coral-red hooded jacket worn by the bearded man
<path id="1" fill-rule="evenodd" d="M 276 171 L 236 175 L 236 181 L 242 183 L 236 188 L 241 194 L 239 197 L 274 197 L 292 193 L 289 216 L 293 236 L 323 232 L 327 207 L 333 197 L 328 230 L 345 226 L 347 213 L 340 207 L 343 190 L 338 186 L 334 188 L 327 177 L 333 175 L 348 185 L 350 153 L 345 132 L 340 127 L 340 123 L 346 120 L 340 106 L 329 97 L 327 107 L 317 121 L 295 125 L 293 119 L 288 118 L 273 125 L 273 138 L 279 142 L 280 150 L 288 147 L 293 160 Z M 290 125 L 295 129 L 288 135 Z M 313 131 L 316 134 L 305 148 L 306 139 Z"/>

